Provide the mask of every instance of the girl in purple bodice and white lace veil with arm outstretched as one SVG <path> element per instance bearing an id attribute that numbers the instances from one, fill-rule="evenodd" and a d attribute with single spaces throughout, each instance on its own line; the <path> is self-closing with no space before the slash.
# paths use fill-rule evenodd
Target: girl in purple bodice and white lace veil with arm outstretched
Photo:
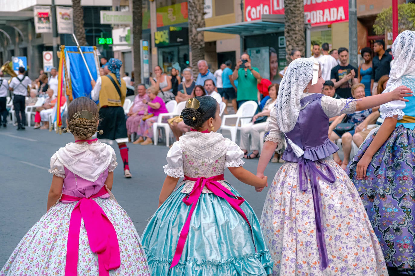
<path id="1" fill-rule="evenodd" d="M 339 148 L 328 137 L 329 118 L 392 100 L 409 89 L 360 101 L 320 94 L 318 63 L 288 65 L 258 163 L 262 177 L 284 136 L 286 161 L 269 188 L 261 216 L 274 275 L 387 275 L 381 247 L 352 181 L 330 159 Z M 256 189 L 258 191 L 261 188 Z"/>

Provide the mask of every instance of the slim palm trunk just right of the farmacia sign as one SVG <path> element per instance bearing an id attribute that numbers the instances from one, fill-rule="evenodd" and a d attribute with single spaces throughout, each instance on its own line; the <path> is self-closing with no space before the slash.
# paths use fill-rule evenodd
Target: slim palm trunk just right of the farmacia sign
<path id="1" fill-rule="evenodd" d="M 141 80 L 141 53 L 140 40 L 142 37 L 143 0 L 132 0 L 132 36 L 134 51 L 134 94 Z"/>

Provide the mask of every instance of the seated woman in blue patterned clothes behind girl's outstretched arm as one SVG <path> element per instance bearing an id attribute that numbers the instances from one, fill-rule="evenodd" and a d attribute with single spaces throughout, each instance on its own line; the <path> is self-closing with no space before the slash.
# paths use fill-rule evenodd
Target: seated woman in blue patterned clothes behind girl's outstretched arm
<path id="1" fill-rule="evenodd" d="M 365 97 L 364 84 L 357 83 L 352 86 L 352 96 L 355 99 L 361 99 Z M 352 151 L 352 137 L 356 132 L 356 127 L 361 124 L 373 111 L 377 111 L 377 108 L 369 108 L 362 111 L 356 111 L 352 114 L 342 114 L 332 122 L 329 127 L 329 138 L 332 142 L 335 142 L 340 137 L 342 138 L 342 148 L 344 159 L 340 159 L 339 154 L 336 152 L 333 154 L 333 160 L 342 166 L 343 169 L 346 169 L 347 164 L 349 163 L 350 152 Z M 336 129 L 339 123 L 352 123 L 354 126 L 352 130 L 347 132 L 342 132 L 341 130 Z M 360 128 L 359 128 L 360 130 Z"/>

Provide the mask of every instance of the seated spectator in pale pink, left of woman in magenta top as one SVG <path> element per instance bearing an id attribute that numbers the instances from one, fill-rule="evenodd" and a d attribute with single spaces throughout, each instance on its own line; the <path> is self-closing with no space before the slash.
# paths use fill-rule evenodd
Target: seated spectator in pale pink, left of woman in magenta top
<path id="1" fill-rule="evenodd" d="M 131 134 L 137 132 L 141 119 L 146 113 L 147 105 L 145 104 L 150 98 L 146 95 L 146 86 L 139 84 L 137 86 L 138 94 L 134 98 L 134 103 L 127 114 L 127 135 L 131 142 Z"/>

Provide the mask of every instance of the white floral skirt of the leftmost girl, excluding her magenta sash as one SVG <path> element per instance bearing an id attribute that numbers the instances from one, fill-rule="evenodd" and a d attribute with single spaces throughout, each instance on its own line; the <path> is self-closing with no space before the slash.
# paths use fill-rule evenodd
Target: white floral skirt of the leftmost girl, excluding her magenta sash
<path id="1" fill-rule="evenodd" d="M 95 198 L 112 222 L 120 246 L 121 266 L 110 270 L 111 276 L 149 276 L 149 266 L 140 238 L 131 219 L 114 199 Z M 65 275 L 69 222 L 78 202 L 57 203 L 24 235 L 1 276 Z M 90 249 L 82 220 L 79 236 L 78 275 L 98 275 L 98 257 Z"/>

